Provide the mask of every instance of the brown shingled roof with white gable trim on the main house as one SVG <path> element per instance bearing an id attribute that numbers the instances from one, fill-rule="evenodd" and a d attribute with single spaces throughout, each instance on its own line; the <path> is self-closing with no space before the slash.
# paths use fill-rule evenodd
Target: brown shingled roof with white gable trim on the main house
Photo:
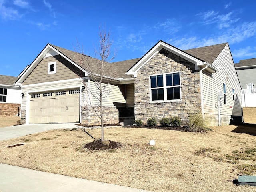
<path id="1" fill-rule="evenodd" d="M 226 46 L 227 43 L 205 46 L 200 48 L 193 48 L 188 50 L 180 50 L 162 40 L 160 40 L 155 46 L 153 46 L 142 58 L 136 58 L 131 60 L 124 60 L 118 62 L 109 63 L 109 65 L 113 68 L 113 71 L 118 71 L 117 78 L 115 80 L 130 80 L 132 79 L 130 75 L 136 74 L 136 72 L 156 53 L 158 53 L 162 48 L 173 52 L 174 54 L 192 62 L 195 64 L 196 69 L 203 68 L 206 65 L 209 72 L 216 72 L 217 69 L 212 66 L 214 60 L 218 57 L 220 52 Z M 60 54 L 66 60 L 74 64 L 77 68 L 82 70 L 85 75 L 88 74 L 83 64 L 80 62 L 79 58 L 86 60 L 92 64 L 92 72 L 94 74 L 99 74 L 98 68 L 96 64 L 100 62 L 100 60 L 96 58 L 92 58 L 90 56 L 86 56 L 84 54 L 79 54 L 77 52 L 67 50 L 52 44 L 47 44 L 45 48 L 40 52 L 40 54 L 35 58 L 35 60 L 19 75 L 19 79 L 16 81 L 17 85 L 21 85 L 21 83 L 28 77 L 28 75 L 34 70 L 34 68 L 39 64 L 39 62 L 48 54 L 53 51 L 56 54 Z M 107 63 L 108 64 L 108 63 Z M 108 74 L 111 76 L 111 74 Z M 135 77 L 135 76 L 134 76 Z"/>

